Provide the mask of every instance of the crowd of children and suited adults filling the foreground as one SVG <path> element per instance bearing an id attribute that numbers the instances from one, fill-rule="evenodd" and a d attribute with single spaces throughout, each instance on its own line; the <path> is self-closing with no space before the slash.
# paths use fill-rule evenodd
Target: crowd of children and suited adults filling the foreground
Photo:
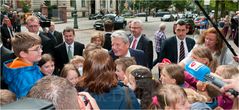
<path id="1" fill-rule="evenodd" d="M 7 17 L 3 24 L 10 24 Z M 130 33 L 106 20 L 105 32 L 92 33 L 86 46 L 70 27 L 58 32 L 51 22 L 40 31 L 36 16 L 26 19 L 26 28 L 10 37 L 1 31 L 1 105 L 31 97 L 56 109 L 239 109 L 239 95 L 228 92 L 239 92 L 239 53 L 233 56 L 214 27 L 195 41 L 187 37 L 185 21 L 177 21 L 172 37 L 161 23 L 155 60 L 153 41 L 138 19 L 128 23 Z M 219 88 L 193 77 L 184 69 L 192 61 L 227 84 Z M 151 73 L 154 66 L 159 79 Z"/>

